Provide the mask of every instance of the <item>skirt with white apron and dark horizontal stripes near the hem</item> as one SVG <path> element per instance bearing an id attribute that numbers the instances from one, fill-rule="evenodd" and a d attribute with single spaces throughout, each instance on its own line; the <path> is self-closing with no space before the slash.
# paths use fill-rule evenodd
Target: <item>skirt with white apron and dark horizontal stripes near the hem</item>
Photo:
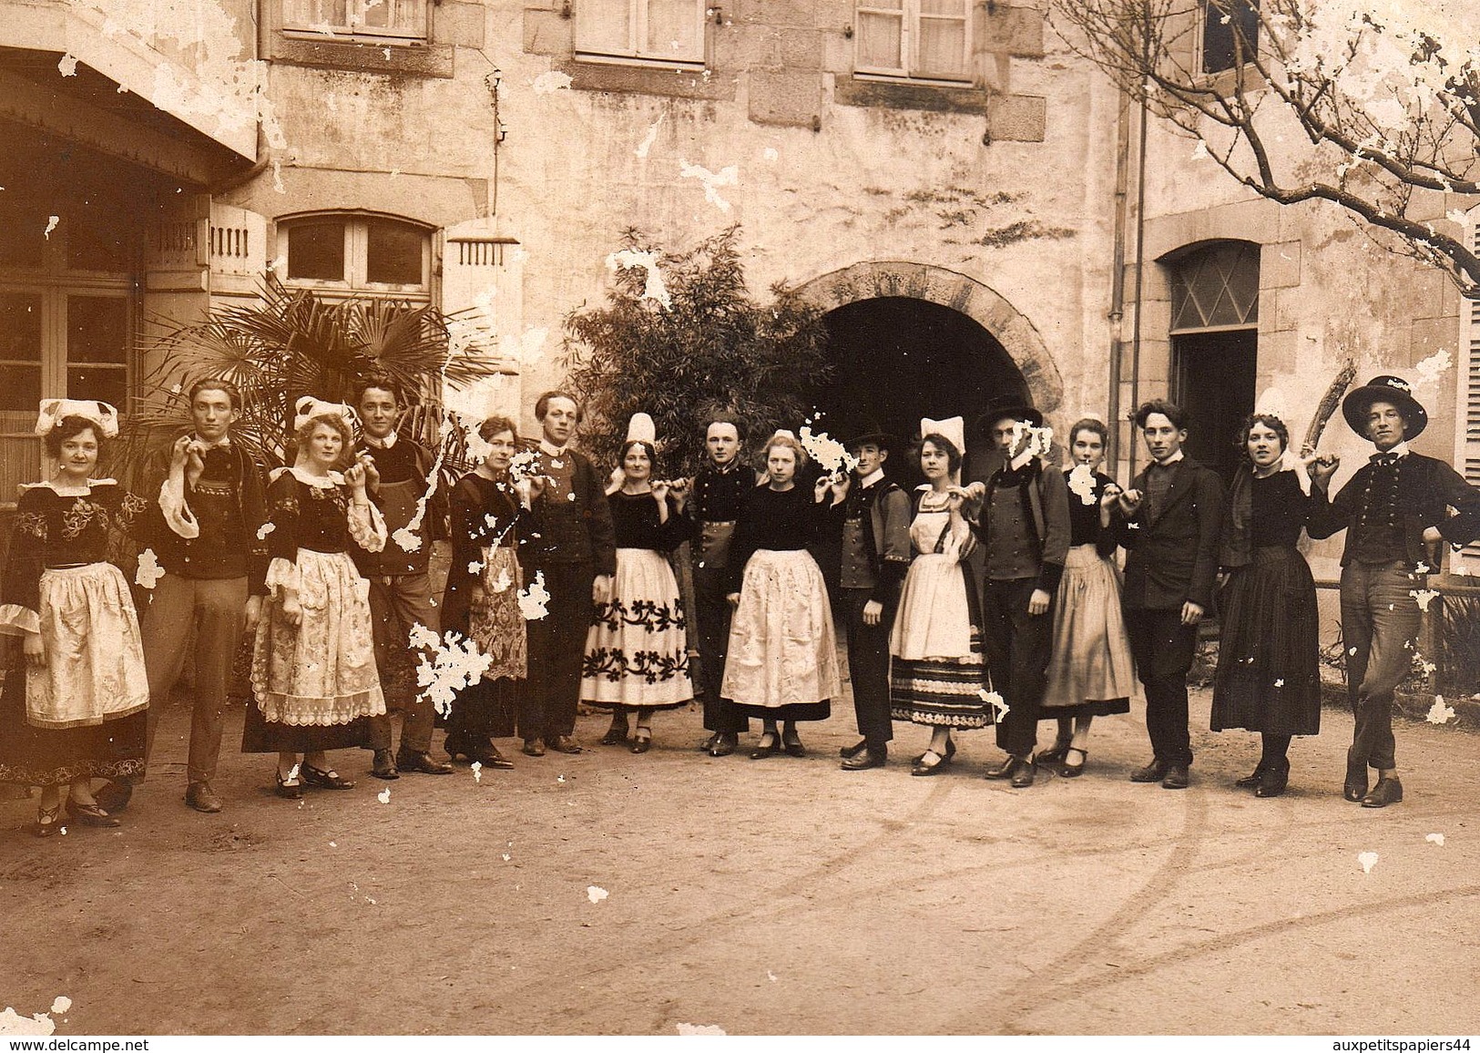
<path id="1" fill-rule="evenodd" d="M 929 727 L 986 727 L 980 616 L 955 555 L 910 563 L 889 634 L 889 715 Z"/>

